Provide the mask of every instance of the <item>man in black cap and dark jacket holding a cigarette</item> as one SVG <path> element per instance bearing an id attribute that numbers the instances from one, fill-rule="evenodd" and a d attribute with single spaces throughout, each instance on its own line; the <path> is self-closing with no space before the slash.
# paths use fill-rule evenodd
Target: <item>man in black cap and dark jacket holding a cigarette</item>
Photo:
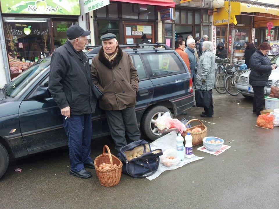
<path id="1" fill-rule="evenodd" d="M 70 174 L 89 178 L 84 167 L 94 168 L 90 157 L 92 135 L 91 115 L 96 98 L 88 57 L 83 53 L 90 31 L 73 25 L 66 32 L 67 42 L 51 56 L 49 91 L 64 116 L 64 128 L 69 140 Z"/>

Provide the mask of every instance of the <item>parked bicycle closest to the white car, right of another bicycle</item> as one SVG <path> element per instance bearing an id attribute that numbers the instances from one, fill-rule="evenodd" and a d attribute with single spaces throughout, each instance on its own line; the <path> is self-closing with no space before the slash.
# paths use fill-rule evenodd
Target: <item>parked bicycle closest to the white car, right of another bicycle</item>
<path id="1" fill-rule="evenodd" d="M 239 71 L 238 67 L 240 66 L 241 66 L 240 64 L 234 64 L 234 66 L 230 71 L 227 70 L 228 75 L 224 80 L 226 91 L 232 96 L 239 95 L 239 91 L 235 87 L 235 84 L 238 82 L 240 75 L 248 70 L 248 69 L 240 69 Z"/>

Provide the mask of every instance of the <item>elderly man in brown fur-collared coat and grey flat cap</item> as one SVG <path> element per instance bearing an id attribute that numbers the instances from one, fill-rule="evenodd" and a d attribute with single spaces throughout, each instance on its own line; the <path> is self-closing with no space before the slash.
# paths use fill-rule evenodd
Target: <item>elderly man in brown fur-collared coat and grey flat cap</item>
<path id="1" fill-rule="evenodd" d="M 118 46 L 116 36 L 101 36 L 103 46 L 92 59 L 93 82 L 103 92 L 100 108 L 105 111 L 115 149 L 127 145 L 125 132 L 132 141 L 140 140 L 135 113 L 139 78 L 131 57 Z"/>

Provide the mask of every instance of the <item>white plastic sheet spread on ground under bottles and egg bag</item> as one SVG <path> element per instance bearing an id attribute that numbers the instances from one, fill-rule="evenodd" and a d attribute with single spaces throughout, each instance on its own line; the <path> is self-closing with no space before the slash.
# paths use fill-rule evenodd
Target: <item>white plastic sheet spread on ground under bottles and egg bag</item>
<path id="1" fill-rule="evenodd" d="M 176 131 L 171 131 L 169 134 L 162 136 L 160 138 L 158 138 L 157 140 L 153 141 L 150 146 L 151 146 L 151 150 L 154 149 L 162 149 L 163 153 L 165 150 L 170 149 L 170 148 L 175 148 L 176 147 Z M 183 161 L 180 161 L 180 163 L 176 166 L 171 166 L 171 167 L 166 167 L 164 166 L 162 163 L 159 164 L 158 170 L 155 174 L 153 174 L 152 176 L 146 177 L 146 179 L 152 180 L 157 178 L 158 176 L 160 176 L 160 174 L 166 170 L 174 170 L 176 168 L 182 167 L 183 165 L 187 164 L 187 163 L 191 163 L 193 161 L 196 160 L 200 160 L 203 157 L 197 157 L 195 155 L 193 155 L 192 158 L 185 158 Z"/>

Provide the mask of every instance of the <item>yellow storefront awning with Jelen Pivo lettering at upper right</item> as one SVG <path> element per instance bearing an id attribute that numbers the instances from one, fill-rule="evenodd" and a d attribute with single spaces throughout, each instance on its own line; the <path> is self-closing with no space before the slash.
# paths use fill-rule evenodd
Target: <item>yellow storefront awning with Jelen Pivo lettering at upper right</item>
<path id="1" fill-rule="evenodd" d="M 224 6 L 220 9 L 214 9 L 213 13 L 213 25 L 226 25 L 228 24 L 228 17 L 229 17 L 229 24 L 237 24 L 237 20 L 235 18 L 235 15 L 240 15 L 242 12 L 246 13 L 257 13 L 257 16 L 261 16 L 260 14 L 269 14 L 269 17 L 262 16 L 265 18 L 264 20 L 258 21 L 257 25 L 263 25 L 265 21 L 273 22 L 273 25 L 279 25 L 279 9 L 278 8 L 272 8 L 272 7 L 266 7 L 266 6 L 260 6 L 260 5 L 254 5 L 254 4 L 246 4 L 246 3 L 240 3 L 240 2 L 230 2 L 231 11 L 230 11 L 230 17 L 228 16 L 228 1 L 225 1 Z M 256 16 L 256 15 L 251 15 Z M 267 23 L 266 22 L 266 23 Z M 256 22 L 255 22 L 256 25 Z M 266 26 L 266 24 L 265 24 Z M 264 27 L 264 26 L 261 26 Z"/>

